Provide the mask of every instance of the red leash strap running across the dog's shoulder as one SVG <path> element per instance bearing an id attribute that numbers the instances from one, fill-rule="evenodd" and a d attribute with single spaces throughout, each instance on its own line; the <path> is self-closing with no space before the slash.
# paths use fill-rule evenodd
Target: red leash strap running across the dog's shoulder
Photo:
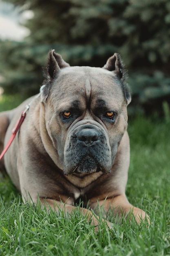
<path id="1" fill-rule="evenodd" d="M 4 154 L 7 152 L 8 148 L 10 147 L 13 139 L 15 138 L 18 130 L 20 129 L 22 122 L 24 121 L 24 118 L 26 116 L 26 112 L 29 110 L 29 105 L 26 105 L 25 110 L 22 111 L 20 118 L 18 119 L 18 121 L 16 122 L 13 130 L 12 130 L 12 134 L 11 137 L 9 138 L 9 141 L 7 142 L 7 145 L 5 146 L 4 150 L 2 151 L 2 153 L 0 154 L 0 160 L 2 159 L 2 157 L 4 156 Z"/>

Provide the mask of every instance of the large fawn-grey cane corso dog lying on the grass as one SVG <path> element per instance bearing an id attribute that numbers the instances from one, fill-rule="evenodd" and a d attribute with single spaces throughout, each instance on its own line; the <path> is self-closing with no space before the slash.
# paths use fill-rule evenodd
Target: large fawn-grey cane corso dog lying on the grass
<path id="1" fill-rule="evenodd" d="M 22 110 L 29 106 L 3 159 L 24 201 L 37 203 L 39 197 L 42 206 L 73 213 L 82 200 L 88 209 L 80 210 L 96 227 L 99 223 L 91 209 L 111 210 L 113 216 L 133 213 L 138 223 L 148 218 L 125 195 L 131 96 L 119 54 L 111 56 L 103 68 L 70 67 L 51 50 L 45 71 L 40 94 L 0 114 L 2 149 Z"/>

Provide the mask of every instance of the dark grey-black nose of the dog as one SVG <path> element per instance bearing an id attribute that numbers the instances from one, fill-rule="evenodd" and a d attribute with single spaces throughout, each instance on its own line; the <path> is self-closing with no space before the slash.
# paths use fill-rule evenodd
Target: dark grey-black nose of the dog
<path id="1" fill-rule="evenodd" d="M 100 133 L 93 128 L 84 128 L 77 132 L 77 139 L 82 141 L 86 146 L 92 146 L 99 139 Z"/>

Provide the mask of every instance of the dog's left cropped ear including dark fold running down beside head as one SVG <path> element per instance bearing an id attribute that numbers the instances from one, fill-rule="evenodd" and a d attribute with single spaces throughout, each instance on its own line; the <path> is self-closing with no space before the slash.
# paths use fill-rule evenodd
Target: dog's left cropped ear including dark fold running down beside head
<path id="1" fill-rule="evenodd" d="M 44 85 L 41 89 L 42 91 L 42 101 L 45 101 L 49 95 L 49 89 L 51 86 L 51 81 L 55 78 L 56 74 L 60 71 L 60 69 L 64 67 L 69 67 L 70 65 L 66 63 L 60 54 L 55 53 L 54 50 L 49 52 L 49 58 L 47 62 L 47 66 L 44 70 L 45 80 Z"/>

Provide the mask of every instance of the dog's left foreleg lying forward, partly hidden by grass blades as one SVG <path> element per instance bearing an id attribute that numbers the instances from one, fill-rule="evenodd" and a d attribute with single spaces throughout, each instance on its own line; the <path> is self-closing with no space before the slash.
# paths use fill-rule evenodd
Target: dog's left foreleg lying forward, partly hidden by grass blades
<path id="1" fill-rule="evenodd" d="M 64 211 L 64 214 L 75 214 L 74 210 L 75 207 L 66 203 L 62 203 L 53 199 L 44 199 L 40 198 L 40 202 L 42 203 L 42 208 L 45 206 L 47 210 L 52 209 L 53 211 L 56 211 L 57 213 L 60 211 Z M 80 212 L 86 217 L 87 221 L 91 221 L 91 224 L 95 227 L 95 232 L 99 230 L 99 219 L 97 219 L 94 214 L 88 210 L 80 207 Z M 110 227 L 110 222 L 102 219 L 103 222 Z"/>

